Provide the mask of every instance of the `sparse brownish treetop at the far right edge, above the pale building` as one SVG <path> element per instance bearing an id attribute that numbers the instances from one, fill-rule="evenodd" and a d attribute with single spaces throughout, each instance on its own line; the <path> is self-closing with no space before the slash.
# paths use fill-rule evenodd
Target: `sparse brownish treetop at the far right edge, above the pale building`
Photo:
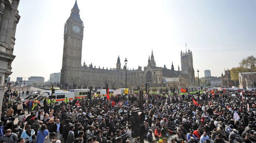
<path id="1" fill-rule="evenodd" d="M 256 71 L 256 58 L 254 56 L 248 56 L 247 58 L 242 59 L 239 64 L 246 69 L 250 69 L 250 72 Z"/>

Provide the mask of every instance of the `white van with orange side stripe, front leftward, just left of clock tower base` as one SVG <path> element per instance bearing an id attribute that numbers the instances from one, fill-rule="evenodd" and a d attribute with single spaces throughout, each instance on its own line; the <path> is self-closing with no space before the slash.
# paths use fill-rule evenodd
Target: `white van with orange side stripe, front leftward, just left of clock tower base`
<path id="1" fill-rule="evenodd" d="M 49 98 L 49 99 L 55 99 L 56 102 L 59 102 L 59 104 L 65 100 L 65 98 L 67 97 L 69 99 L 69 101 L 72 101 L 74 99 L 74 92 L 56 92 L 53 93 L 53 95 L 51 96 L 51 94 L 48 93 L 44 93 L 43 95 L 40 95 L 37 97 L 37 100 L 39 101 L 39 104 L 41 107 L 43 107 L 43 99 L 44 98 Z"/>

